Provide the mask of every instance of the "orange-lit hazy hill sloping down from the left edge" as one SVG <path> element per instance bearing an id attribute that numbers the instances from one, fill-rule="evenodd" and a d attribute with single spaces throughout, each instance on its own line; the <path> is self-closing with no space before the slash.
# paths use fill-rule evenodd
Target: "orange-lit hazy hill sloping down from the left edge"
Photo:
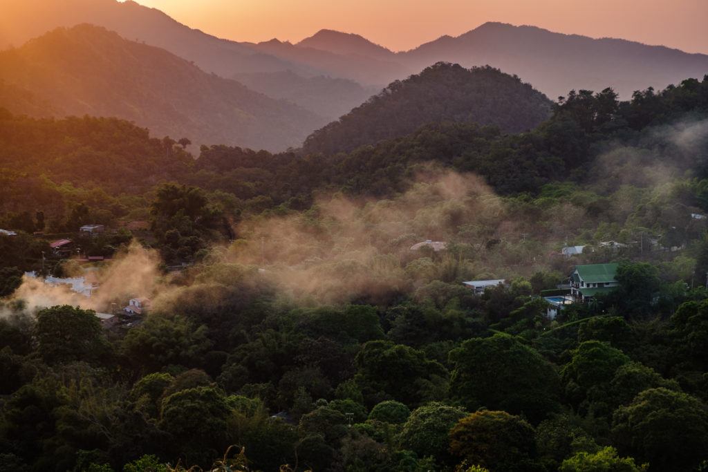
<path id="1" fill-rule="evenodd" d="M 153 135 L 188 137 L 196 144 L 279 151 L 300 144 L 323 122 L 93 25 L 58 28 L 0 52 L 0 79 L 0 106 L 11 112 L 120 117 Z"/>

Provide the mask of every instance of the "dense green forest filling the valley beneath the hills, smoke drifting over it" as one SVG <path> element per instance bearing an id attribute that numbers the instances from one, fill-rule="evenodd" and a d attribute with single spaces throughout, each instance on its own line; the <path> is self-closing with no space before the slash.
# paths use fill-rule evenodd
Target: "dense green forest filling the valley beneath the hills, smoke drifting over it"
<path id="1" fill-rule="evenodd" d="M 193 159 L 120 120 L 3 112 L 0 470 L 209 467 L 234 444 L 236 470 L 701 470 L 707 119 L 708 78 L 571 92 L 520 134 Z M 149 229 L 76 235 L 128 219 Z M 42 257 L 54 231 L 114 256 L 103 287 L 159 274 L 151 311 L 32 309 L 23 270 L 78 264 Z M 542 291 L 613 260 L 618 289 L 549 318 Z"/>

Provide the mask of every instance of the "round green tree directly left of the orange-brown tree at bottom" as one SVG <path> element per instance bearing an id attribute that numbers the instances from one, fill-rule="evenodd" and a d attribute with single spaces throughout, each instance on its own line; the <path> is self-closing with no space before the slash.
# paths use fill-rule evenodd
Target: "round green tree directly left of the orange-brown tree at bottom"
<path id="1" fill-rule="evenodd" d="M 452 464 L 447 451 L 450 429 L 465 415 L 462 408 L 437 401 L 416 408 L 401 430 L 401 447 L 421 457 L 433 456 L 438 463 Z"/>

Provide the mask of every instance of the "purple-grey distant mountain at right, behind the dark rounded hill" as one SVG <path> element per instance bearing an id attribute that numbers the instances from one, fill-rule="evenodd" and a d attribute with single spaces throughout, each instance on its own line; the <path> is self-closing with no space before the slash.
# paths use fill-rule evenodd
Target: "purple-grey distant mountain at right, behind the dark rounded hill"
<path id="1" fill-rule="evenodd" d="M 535 26 L 484 23 L 457 38 L 443 36 L 401 54 L 409 67 L 434 61 L 489 64 L 517 74 L 548 96 L 612 87 L 621 97 L 708 74 L 708 55 L 618 39 L 553 33 Z"/>

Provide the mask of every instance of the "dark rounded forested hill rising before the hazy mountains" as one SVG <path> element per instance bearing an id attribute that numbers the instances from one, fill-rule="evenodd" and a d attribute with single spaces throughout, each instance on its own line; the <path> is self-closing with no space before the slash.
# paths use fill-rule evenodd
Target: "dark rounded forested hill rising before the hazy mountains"
<path id="1" fill-rule="evenodd" d="M 336 154 L 413 132 L 436 122 L 476 122 L 507 132 L 531 129 L 550 115 L 551 101 L 518 77 L 491 67 L 438 63 L 312 133 L 306 152 Z"/>

